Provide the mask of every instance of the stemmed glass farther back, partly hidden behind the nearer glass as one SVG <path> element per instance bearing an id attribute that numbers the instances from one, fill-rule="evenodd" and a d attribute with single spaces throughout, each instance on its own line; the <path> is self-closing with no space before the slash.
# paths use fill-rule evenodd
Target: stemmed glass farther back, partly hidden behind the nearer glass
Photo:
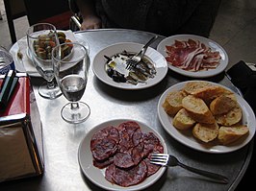
<path id="1" fill-rule="evenodd" d="M 46 80 L 38 88 L 41 97 L 55 99 L 62 95 L 60 87 L 54 82 L 52 48 L 59 44 L 55 26 L 38 23 L 27 31 L 28 56 L 33 61 L 39 75 Z"/>

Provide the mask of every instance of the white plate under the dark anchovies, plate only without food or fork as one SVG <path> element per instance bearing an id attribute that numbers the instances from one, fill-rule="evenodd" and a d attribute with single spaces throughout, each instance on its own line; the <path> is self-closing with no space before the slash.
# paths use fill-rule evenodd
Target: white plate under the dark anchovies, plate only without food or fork
<path id="1" fill-rule="evenodd" d="M 165 77 L 168 70 L 166 59 L 155 49 L 148 47 L 145 53 L 150 60 L 153 61 L 156 68 L 156 76 L 153 79 L 148 79 L 145 83 L 128 84 L 128 83 L 115 83 L 110 78 L 105 70 L 106 59 L 104 55 L 112 57 L 115 54 L 121 53 L 126 50 L 127 52 L 138 53 L 141 50 L 143 44 L 133 42 L 122 42 L 110 45 L 102 49 L 94 58 L 92 62 L 92 70 L 96 77 L 105 84 L 123 89 L 143 89 L 154 84 L 160 83 Z"/>

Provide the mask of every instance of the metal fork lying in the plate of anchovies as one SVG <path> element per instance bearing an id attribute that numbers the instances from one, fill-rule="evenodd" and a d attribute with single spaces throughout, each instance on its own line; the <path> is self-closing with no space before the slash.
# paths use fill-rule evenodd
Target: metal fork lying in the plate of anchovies
<path id="1" fill-rule="evenodd" d="M 130 70 L 134 67 L 136 67 L 136 65 L 141 61 L 141 59 L 143 58 L 147 47 L 153 43 L 156 39 L 158 38 L 158 36 L 153 36 L 142 48 L 141 51 L 135 55 L 132 59 L 129 59 L 126 61 L 126 69 Z"/>

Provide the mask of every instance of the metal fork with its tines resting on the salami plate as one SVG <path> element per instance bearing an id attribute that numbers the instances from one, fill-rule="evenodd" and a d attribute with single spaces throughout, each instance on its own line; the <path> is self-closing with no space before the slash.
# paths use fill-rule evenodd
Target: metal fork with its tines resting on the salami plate
<path id="1" fill-rule="evenodd" d="M 228 179 L 226 177 L 222 175 L 218 175 L 216 173 L 209 172 L 209 171 L 204 171 L 204 170 L 187 166 L 186 164 L 181 163 L 174 155 L 152 154 L 150 158 L 150 163 L 161 165 L 161 166 L 180 166 L 198 175 L 202 175 L 211 179 L 216 179 L 220 183 L 228 183 Z"/>

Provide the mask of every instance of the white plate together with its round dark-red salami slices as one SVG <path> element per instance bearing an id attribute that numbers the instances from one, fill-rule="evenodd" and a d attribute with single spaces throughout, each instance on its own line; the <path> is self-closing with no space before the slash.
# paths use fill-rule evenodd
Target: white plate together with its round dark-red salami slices
<path id="1" fill-rule="evenodd" d="M 101 123 L 81 141 L 78 161 L 84 175 L 106 190 L 141 190 L 158 179 L 166 167 L 150 164 L 152 153 L 166 153 L 162 136 L 129 119 Z"/>

